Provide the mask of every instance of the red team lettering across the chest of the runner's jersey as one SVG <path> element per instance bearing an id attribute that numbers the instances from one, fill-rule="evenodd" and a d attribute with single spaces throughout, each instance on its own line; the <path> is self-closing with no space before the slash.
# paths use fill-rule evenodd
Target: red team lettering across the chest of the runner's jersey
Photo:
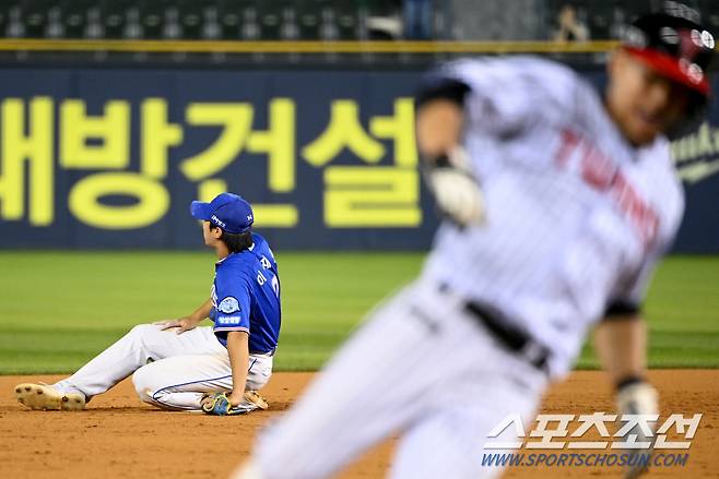
<path id="1" fill-rule="evenodd" d="M 587 139 L 565 129 L 562 132 L 562 145 L 556 153 L 555 161 L 561 168 L 568 169 L 569 158 L 575 157 L 578 157 L 578 172 L 585 183 L 609 194 L 614 200 L 648 249 L 655 242 L 659 230 L 657 212 L 637 193 L 609 156 Z"/>

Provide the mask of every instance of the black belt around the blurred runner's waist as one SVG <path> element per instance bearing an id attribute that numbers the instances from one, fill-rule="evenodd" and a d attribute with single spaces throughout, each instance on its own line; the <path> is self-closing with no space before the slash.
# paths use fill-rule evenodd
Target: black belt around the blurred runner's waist
<path id="1" fill-rule="evenodd" d="M 440 285 L 440 291 L 447 291 Z M 478 301 L 465 302 L 463 309 L 497 339 L 506 349 L 517 354 L 534 368 L 549 374 L 550 348 L 534 340 L 528 333 L 515 327 L 495 308 Z"/>

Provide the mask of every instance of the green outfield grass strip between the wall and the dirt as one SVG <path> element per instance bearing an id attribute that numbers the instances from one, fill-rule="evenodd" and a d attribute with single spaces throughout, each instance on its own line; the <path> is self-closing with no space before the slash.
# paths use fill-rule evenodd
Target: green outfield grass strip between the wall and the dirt
<path id="1" fill-rule="evenodd" d="M 283 253 L 278 370 L 315 370 L 422 255 Z M 211 252 L 0 252 L 0 373 L 70 372 L 210 292 Z M 670 258 L 647 301 L 652 367 L 719 367 L 719 258 Z M 585 348 L 580 368 L 597 363 Z"/>

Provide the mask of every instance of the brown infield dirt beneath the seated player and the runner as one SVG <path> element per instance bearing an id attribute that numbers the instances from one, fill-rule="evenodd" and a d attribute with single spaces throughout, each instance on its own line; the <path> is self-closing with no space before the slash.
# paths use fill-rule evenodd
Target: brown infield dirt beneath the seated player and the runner
<path id="1" fill-rule="evenodd" d="M 59 376 L 0 376 L 0 478 L 224 478 L 247 457 L 255 433 L 287 409 L 311 376 L 276 373 L 263 391 L 271 409 L 232 418 L 154 409 L 140 403 L 129 380 L 81 412 L 31 411 L 15 403 L 13 386 Z M 650 380 L 661 392 L 662 419 L 670 412 L 704 417 L 691 450 L 679 451 L 689 454 L 686 466 L 652 468 L 646 477 L 719 477 L 719 370 L 655 370 Z M 542 406 L 546 414 L 612 410 L 609 384 L 596 371 L 573 373 Z M 370 450 L 340 477 L 384 477 L 396 442 Z M 504 477 L 610 478 L 621 477 L 621 469 L 515 467 Z"/>

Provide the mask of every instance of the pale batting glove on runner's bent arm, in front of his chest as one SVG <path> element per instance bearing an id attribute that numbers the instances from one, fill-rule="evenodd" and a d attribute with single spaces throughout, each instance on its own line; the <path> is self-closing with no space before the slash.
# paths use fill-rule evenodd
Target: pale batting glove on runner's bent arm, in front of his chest
<path id="1" fill-rule="evenodd" d="M 437 207 L 459 226 L 484 221 L 484 197 L 461 146 L 425 164 L 425 179 Z"/>

